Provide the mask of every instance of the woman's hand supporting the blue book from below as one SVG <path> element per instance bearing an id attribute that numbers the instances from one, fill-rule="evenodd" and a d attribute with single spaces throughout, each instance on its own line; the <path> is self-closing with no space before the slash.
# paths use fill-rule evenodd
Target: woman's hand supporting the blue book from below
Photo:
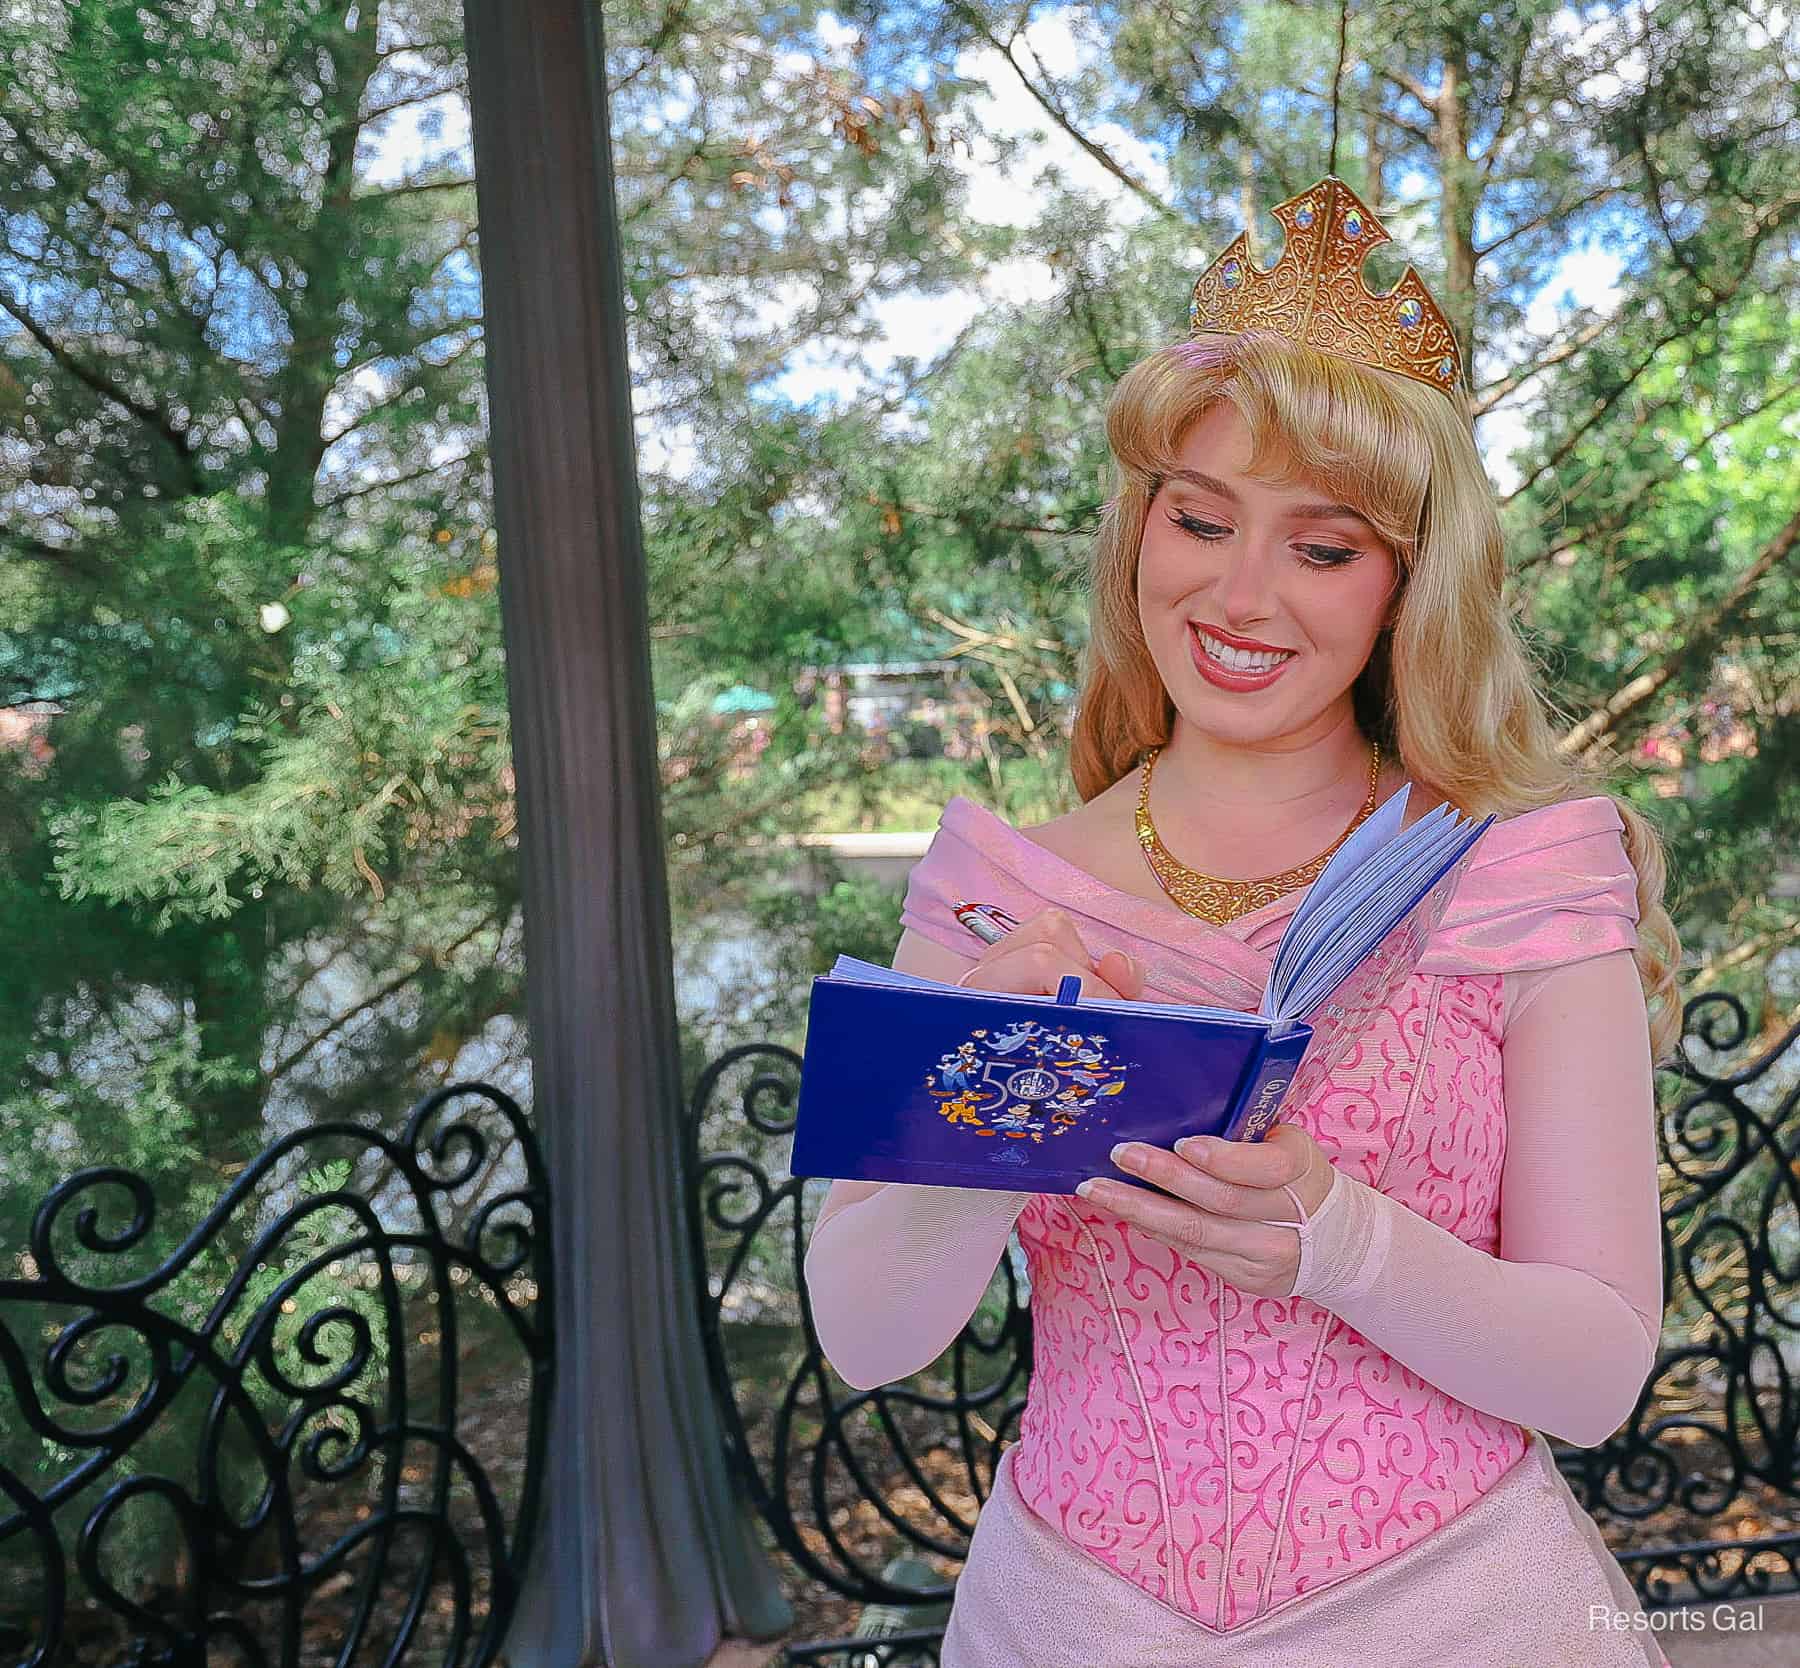
<path id="1" fill-rule="evenodd" d="M 1262 1141 L 1190 1135 L 1174 1150 L 1123 1141 L 1112 1162 L 1161 1188 L 1147 1193 L 1094 1179 L 1080 1195 L 1123 1216 L 1139 1233 L 1258 1297 L 1289 1297 L 1300 1278 L 1300 1234 L 1289 1184 L 1310 1220 L 1332 1186 L 1330 1159 L 1300 1125 L 1278 1123 Z M 1175 1195 L 1165 1198 L 1163 1195 Z"/>

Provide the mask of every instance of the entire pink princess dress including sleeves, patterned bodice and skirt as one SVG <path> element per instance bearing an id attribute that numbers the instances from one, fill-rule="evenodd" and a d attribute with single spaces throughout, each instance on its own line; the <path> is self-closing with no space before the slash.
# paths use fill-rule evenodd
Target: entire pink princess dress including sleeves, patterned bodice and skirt
<path id="1" fill-rule="evenodd" d="M 1053 905 L 1147 999 L 1249 1009 L 1301 896 L 1211 927 L 952 799 L 902 919 L 967 966 L 958 901 Z M 1481 837 L 1418 972 L 1283 1108 L 1334 1166 L 1287 1297 L 1080 1197 L 833 1182 L 806 1281 L 857 1387 L 936 1359 L 1013 1229 L 1028 1263 L 1026 1411 L 945 1668 L 1667 1668 L 1544 1441 L 1604 1441 L 1658 1346 L 1634 941 L 1611 799 Z"/>

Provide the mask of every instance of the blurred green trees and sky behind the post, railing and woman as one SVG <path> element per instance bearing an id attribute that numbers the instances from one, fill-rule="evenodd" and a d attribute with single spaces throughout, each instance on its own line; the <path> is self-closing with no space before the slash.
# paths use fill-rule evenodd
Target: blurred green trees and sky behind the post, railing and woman
<path id="1" fill-rule="evenodd" d="M 1670 842 L 1685 993 L 1784 1035 L 1787 7 L 603 18 L 689 1083 L 887 959 L 952 794 L 1075 803 L 1107 394 L 1334 144 L 1368 281 L 1465 342 L 1512 610 Z M 85 1164 L 198 1207 L 452 1080 L 529 1108 L 481 318 L 455 4 L 0 13 L 0 1276 Z M 0 1411 L 0 1463 L 56 1447 Z"/>

